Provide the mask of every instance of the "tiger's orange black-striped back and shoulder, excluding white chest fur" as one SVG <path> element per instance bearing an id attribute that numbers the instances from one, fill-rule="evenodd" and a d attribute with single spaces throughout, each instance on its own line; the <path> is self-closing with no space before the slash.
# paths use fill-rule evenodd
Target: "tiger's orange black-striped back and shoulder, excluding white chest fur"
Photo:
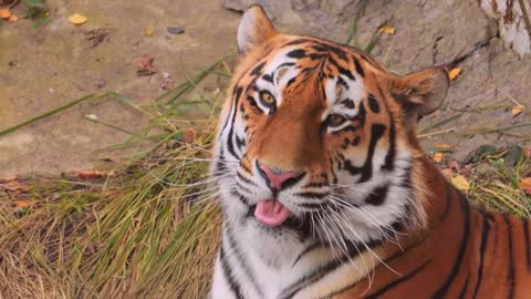
<path id="1" fill-rule="evenodd" d="M 420 163 L 429 186 L 426 228 L 407 233 L 400 246 L 384 244 L 374 281 L 358 280 L 331 298 L 528 298 L 530 221 L 471 207 L 435 165 Z"/>

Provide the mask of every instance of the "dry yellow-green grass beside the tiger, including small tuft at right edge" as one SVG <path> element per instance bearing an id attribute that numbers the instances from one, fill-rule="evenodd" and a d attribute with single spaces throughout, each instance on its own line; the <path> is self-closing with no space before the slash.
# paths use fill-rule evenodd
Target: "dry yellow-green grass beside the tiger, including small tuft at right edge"
<path id="1" fill-rule="evenodd" d="M 217 70 L 223 59 L 153 106 L 112 92 L 97 95 L 153 117 L 115 146 L 139 150 L 108 177 L 18 178 L 11 187 L 0 182 L 0 298 L 205 298 L 221 221 L 209 200 L 216 194 L 206 176 L 210 153 L 205 150 L 218 107 L 207 91 L 189 92 L 209 74 L 227 76 Z M 190 111 L 195 121 L 184 117 Z M 194 136 L 187 127 L 201 128 Z M 468 174 L 471 200 L 530 216 L 531 199 L 518 188 L 530 164 L 520 158 L 507 166 L 499 154 L 482 158 Z"/>

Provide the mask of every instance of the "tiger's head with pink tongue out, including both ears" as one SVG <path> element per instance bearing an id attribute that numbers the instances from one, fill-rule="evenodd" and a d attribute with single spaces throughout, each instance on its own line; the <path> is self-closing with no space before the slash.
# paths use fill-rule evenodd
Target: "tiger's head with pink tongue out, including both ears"
<path id="1" fill-rule="evenodd" d="M 396 76 L 351 47 L 277 32 L 258 6 L 238 47 L 214 164 L 225 229 L 282 256 L 423 226 L 415 126 L 445 97 L 445 70 Z"/>

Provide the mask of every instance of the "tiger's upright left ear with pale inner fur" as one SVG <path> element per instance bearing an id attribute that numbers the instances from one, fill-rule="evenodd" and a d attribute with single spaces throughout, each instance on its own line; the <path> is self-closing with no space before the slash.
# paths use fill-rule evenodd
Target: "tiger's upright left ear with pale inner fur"
<path id="1" fill-rule="evenodd" d="M 246 54 L 277 35 L 273 24 L 260 6 L 251 6 L 238 27 L 238 50 Z"/>

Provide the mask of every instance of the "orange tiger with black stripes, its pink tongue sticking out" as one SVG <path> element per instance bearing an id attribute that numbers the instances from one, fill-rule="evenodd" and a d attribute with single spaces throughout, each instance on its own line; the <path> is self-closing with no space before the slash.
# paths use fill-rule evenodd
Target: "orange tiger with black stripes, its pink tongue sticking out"
<path id="1" fill-rule="evenodd" d="M 259 6 L 237 42 L 209 298 L 531 298 L 530 221 L 471 205 L 416 137 L 445 66 L 397 75 Z"/>

